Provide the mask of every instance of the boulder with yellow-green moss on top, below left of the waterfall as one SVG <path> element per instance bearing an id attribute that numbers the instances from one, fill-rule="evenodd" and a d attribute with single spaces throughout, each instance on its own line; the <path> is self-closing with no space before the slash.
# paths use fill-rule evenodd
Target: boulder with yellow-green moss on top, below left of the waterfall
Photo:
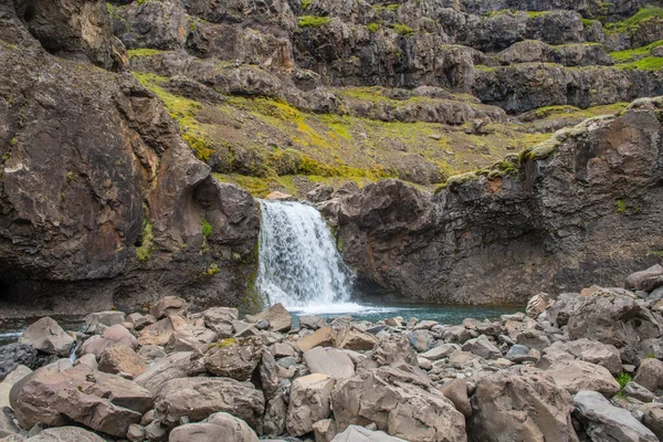
<path id="1" fill-rule="evenodd" d="M 210 373 L 245 381 L 251 379 L 261 354 L 254 338 L 228 338 L 208 346 L 202 358 Z"/>

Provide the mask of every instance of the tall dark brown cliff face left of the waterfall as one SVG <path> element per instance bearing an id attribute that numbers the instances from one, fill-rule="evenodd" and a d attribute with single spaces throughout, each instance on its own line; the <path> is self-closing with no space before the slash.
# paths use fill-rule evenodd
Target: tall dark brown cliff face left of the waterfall
<path id="1" fill-rule="evenodd" d="M 2 314 L 236 303 L 257 208 L 130 74 L 98 1 L 0 6 Z M 97 66 L 95 66 L 94 64 Z"/>

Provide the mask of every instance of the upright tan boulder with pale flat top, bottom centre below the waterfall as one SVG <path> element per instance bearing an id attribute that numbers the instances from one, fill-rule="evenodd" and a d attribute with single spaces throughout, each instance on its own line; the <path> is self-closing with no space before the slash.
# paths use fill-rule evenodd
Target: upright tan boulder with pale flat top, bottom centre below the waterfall
<path id="1" fill-rule="evenodd" d="M 332 413 L 330 397 L 336 380 L 315 373 L 297 378 L 291 387 L 285 427 L 292 435 L 313 431 L 313 424 Z"/>

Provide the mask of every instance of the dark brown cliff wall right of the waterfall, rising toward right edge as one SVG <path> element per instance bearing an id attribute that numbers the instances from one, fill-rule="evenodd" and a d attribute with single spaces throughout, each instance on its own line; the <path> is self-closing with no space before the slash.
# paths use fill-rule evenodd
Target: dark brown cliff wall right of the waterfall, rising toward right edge
<path id="1" fill-rule="evenodd" d="M 635 102 L 434 196 L 383 181 L 323 211 L 369 295 L 523 303 L 532 287 L 620 286 L 663 250 L 662 110 Z"/>

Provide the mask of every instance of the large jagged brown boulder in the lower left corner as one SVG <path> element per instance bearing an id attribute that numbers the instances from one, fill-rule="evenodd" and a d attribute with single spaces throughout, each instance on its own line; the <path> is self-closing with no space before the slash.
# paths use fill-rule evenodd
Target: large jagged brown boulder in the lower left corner
<path id="1" fill-rule="evenodd" d="M 139 385 L 83 365 L 40 368 L 13 386 L 10 401 L 22 428 L 74 421 L 117 438 L 152 407 L 151 394 Z"/>

